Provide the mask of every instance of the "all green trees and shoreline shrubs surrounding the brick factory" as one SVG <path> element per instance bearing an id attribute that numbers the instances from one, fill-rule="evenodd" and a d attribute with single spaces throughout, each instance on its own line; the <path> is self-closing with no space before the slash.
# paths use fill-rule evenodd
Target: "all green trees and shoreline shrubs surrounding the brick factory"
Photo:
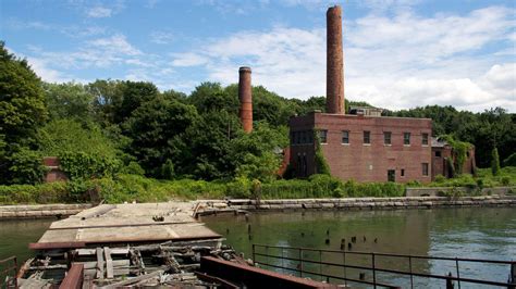
<path id="1" fill-rule="evenodd" d="M 403 194 L 403 185 L 332 178 L 320 146 L 319 175 L 278 179 L 290 116 L 324 111 L 324 98 L 286 99 L 263 87 L 254 87 L 253 96 L 255 127 L 244 134 L 236 85 L 202 83 L 185 95 L 145 81 L 46 84 L 0 42 L 0 203 L 78 202 L 95 194 L 108 202 Z M 346 99 L 345 105 L 369 104 Z M 515 115 L 502 108 L 471 113 L 433 105 L 385 114 L 433 118 L 434 135 L 451 135 L 457 158 L 465 158 L 465 141 L 475 144 L 482 167 L 496 147 L 506 167 L 494 177 L 481 169 L 482 186 L 515 184 Z M 40 184 L 42 156 L 59 156 L 71 181 Z M 437 183 L 447 181 L 478 179 Z"/>

